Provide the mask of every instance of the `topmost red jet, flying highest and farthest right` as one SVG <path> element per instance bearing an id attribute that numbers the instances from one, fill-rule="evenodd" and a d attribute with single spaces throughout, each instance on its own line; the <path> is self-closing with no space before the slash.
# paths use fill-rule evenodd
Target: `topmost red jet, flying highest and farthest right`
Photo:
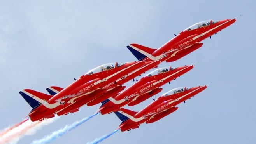
<path id="1" fill-rule="evenodd" d="M 211 38 L 212 35 L 230 26 L 235 21 L 236 19 L 234 18 L 196 23 L 181 31 L 179 35 L 175 35 L 172 40 L 158 49 L 152 49 L 138 44 L 130 44 L 127 48 L 139 61 L 160 59 L 162 62 L 172 62 L 202 47 L 203 43 L 200 43 L 202 40 L 208 37 Z"/>

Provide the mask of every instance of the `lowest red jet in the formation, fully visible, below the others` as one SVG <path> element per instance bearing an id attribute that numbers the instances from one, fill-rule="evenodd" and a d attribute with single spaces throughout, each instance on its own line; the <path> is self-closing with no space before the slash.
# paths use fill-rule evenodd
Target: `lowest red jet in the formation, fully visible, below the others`
<path id="1" fill-rule="evenodd" d="M 153 123 L 158 121 L 176 111 L 178 107 L 175 106 L 202 92 L 205 88 L 207 88 L 206 85 L 192 88 L 175 88 L 158 97 L 158 99 L 139 112 L 121 108 L 119 111 L 114 112 L 122 121 L 119 128 L 123 132 L 139 128 L 142 123 Z"/>

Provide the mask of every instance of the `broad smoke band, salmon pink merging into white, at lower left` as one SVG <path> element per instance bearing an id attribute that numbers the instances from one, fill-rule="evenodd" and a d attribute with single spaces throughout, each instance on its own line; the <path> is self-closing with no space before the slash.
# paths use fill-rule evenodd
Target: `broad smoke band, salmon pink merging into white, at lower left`
<path id="1" fill-rule="evenodd" d="M 31 120 L 26 121 L 19 127 L 14 128 L 13 130 L 7 132 L 3 135 L 2 139 L 0 140 L 0 144 L 2 143 L 10 143 L 16 144 L 23 136 L 25 135 L 33 135 L 37 132 L 37 130 L 41 129 L 44 125 L 49 125 L 53 123 L 59 117 L 46 119 L 43 121 L 35 121 L 32 122 Z"/>

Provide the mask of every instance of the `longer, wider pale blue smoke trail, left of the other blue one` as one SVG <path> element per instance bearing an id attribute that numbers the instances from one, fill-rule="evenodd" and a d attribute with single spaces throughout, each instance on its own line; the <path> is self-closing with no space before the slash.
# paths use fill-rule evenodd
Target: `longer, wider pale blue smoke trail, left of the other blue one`
<path id="1" fill-rule="evenodd" d="M 99 112 L 98 112 L 99 113 Z M 39 139 L 39 140 L 35 140 L 33 141 L 31 144 L 47 144 L 50 143 L 52 141 L 54 141 L 55 139 L 57 139 L 58 137 L 63 136 L 64 134 L 66 134 L 67 132 L 77 128 L 79 125 L 82 125 L 82 123 L 88 121 L 89 119 L 91 119 L 93 116 L 97 115 L 98 113 L 95 113 L 91 116 L 88 116 L 86 118 L 83 118 L 80 121 L 75 121 L 74 123 L 72 123 L 71 125 L 66 125 L 64 128 L 61 128 L 60 130 L 57 130 L 53 133 L 51 133 L 50 135 L 46 135 L 44 138 Z"/>

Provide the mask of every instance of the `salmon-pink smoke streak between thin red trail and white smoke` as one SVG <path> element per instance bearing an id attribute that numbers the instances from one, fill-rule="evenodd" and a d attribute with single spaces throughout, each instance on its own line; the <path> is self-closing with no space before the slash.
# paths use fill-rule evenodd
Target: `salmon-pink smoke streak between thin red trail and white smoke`
<path id="1" fill-rule="evenodd" d="M 42 121 L 36 121 L 36 122 L 30 121 L 30 123 L 28 125 L 26 125 L 24 128 L 17 127 L 19 130 L 14 130 L 15 132 L 10 135 L 7 135 L 7 136 L 4 135 L 3 139 L 0 140 L 0 144 L 5 144 L 5 143 L 15 140 L 19 136 L 25 134 L 28 130 L 30 130 L 30 128 L 35 127 L 36 125 L 38 125 L 41 122 Z"/>

